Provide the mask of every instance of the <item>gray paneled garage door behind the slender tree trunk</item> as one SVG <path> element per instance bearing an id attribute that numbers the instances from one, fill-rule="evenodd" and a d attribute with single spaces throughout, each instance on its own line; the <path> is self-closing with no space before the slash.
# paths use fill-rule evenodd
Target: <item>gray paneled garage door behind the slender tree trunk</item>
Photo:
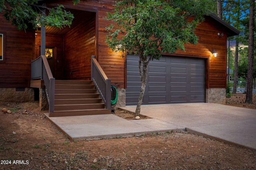
<path id="1" fill-rule="evenodd" d="M 141 82 L 138 57 L 127 56 L 126 105 L 136 105 Z M 163 56 L 150 61 L 142 104 L 205 102 L 205 60 Z"/>

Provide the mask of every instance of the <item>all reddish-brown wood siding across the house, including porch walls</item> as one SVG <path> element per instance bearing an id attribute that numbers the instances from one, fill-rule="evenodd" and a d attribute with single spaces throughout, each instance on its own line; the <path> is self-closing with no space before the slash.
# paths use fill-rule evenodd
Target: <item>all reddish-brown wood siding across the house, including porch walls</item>
<path id="1" fill-rule="evenodd" d="M 46 47 L 56 48 L 54 76 L 56 79 L 90 80 L 91 55 L 102 66 L 104 72 L 117 88 L 126 88 L 125 59 L 121 53 L 111 51 L 106 45 L 110 24 L 106 21 L 107 12 L 112 12 L 112 0 L 81 0 L 76 6 L 72 1 L 56 0 L 47 5 L 63 4 L 66 9 L 83 14 L 79 22 L 74 22 L 65 34 L 46 35 Z M 217 33 L 223 33 L 218 36 Z M 33 30 L 17 31 L 5 19 L 0 18 L 0 33 L 6 37 L 4 61 L 0 61 L 0 87 L 29 87 L 30 61 L 39 56 L 40 34 L 34 36 Z M 177 51 L 176 55 L 200 57 L 206 62 L 206 88 L 226 87 L 226 39 L 223 26 L 210 17 L 196 29 L 199 40 L 197 45 L 186 45 L 186 51 Z M 218 52 L 213 57 L 212 50 Z"/>

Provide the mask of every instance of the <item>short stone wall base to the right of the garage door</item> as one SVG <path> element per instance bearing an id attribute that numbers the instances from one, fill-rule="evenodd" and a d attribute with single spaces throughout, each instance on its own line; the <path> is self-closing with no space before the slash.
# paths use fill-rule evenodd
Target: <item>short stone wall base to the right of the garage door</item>
<path id="1" fill-rule="evenodd" d="M 206 103 L 226 104 L 226 88 L 206 89 Z"/>

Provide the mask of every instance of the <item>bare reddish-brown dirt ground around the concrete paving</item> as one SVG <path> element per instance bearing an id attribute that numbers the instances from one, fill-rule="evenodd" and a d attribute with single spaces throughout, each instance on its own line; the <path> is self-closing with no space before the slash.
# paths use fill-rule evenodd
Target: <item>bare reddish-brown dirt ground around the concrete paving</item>
<path id="1" fill-rule="evenodd" d="M 244 104 L 245 95 L 227 98 Z M 12 113 L 2 112 L 3 108 Z M 194 170 L 256 169 L 256 151 L 187 132 L 70 141 L 38 108 L 38 103 L 0 104 L 0 170 Z M 132 119 L 127 111 L 116 115 Z"/>

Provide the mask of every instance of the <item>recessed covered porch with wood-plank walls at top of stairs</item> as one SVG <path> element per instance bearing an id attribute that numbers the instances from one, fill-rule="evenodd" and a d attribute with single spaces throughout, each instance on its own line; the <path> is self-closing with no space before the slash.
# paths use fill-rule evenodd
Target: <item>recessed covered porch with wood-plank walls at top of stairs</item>
<path id="1" fill-rule="evenodd" d="M 56 80 L 90 80 L 96 55 L 96 12 L 66 9 L 74 14 L 70 27 L 46 27 L 46 57 Z M 41 55 L 41 29 L 35 32 L 34 59 Z"/>

